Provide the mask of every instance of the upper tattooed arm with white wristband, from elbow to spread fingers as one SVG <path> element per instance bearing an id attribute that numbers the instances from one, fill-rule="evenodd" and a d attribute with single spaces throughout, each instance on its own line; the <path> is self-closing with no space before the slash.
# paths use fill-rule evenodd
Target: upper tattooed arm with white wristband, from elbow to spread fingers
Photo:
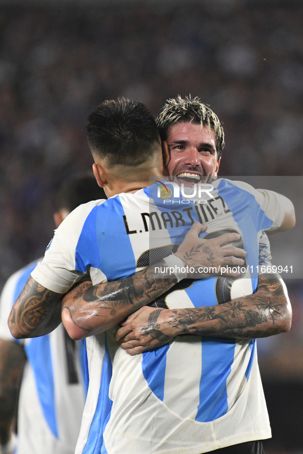
<path id="1" fill-rule="evenodd" d="M 189 267 L 226 266 L 227 260 L 235 265 L 243 265 L 246 252 L 234 246 L 221 248 L 230 241 L 238 240 L 236 233 L 226 233 L 211 240 L 198 237 L 206 226 L 194 224 L 185 236 L 175 255 Z M 153 273 L 154 267 L 166 272 Z M 210 274 L 196 274 L 195 277 L 208 277 Z M 233 274 L 235 275 L 235 274 Z M 62 321 L 73 339 L 97 334 L 122 322 L 128 315 L 149 304 L 175 285 L 177 279 L 161 261 L 153 267 L 135 273 L 125 279 L 92 286 L 91 282 L 78 285 L 69 291 L 62 300 Z"/>

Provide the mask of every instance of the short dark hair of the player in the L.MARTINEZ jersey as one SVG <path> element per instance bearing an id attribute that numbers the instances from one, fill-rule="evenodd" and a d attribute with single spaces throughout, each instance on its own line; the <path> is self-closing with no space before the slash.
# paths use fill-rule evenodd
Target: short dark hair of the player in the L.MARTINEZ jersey
<path id="1" fill-rule="evenodd" d="M 110 166 L 146 162 L 160 144 L 156 120 L 138 101 L 118 98 L 97 105 L 88 117 L 88 144 Z"/>

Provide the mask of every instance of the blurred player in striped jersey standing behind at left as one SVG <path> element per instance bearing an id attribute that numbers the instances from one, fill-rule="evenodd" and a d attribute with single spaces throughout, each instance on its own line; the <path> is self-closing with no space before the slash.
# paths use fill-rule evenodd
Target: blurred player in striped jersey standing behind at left
<path id="1" fill-rule="evenodd" d="M 56 227 L 82 203 L 106 198 L 93 175 L 66 181 L 56 197 Z M 42 259 L 41 259 L 42 260 Z M 51 334 L 17 342 L 7 317 L 38 261 L 14 273 L 0 301 L 0 452 L 15 449 L 12 421 L 18 402 L 16 454 L 73 454 L 86 396 L 84 342 L 74 341 L 63 325 Z"/>

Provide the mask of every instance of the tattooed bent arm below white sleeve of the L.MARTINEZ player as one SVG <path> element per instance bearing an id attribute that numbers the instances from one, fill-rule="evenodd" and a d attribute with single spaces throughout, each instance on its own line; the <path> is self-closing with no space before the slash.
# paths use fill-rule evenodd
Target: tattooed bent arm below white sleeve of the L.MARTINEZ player
<path id="1" fill-rule="evenodd" d="M 51 292 L 31 276 L 9 316 L 8 326 L 16 338 L 38 337 L 53 331 L 60 323 L 61 294 Z"/>

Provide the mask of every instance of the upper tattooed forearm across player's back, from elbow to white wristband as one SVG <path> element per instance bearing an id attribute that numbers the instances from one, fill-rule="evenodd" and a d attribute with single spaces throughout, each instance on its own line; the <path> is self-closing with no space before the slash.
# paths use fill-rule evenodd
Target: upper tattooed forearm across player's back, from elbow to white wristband
<path id="1" fill-rule="evenodd" d="M 159 266 L 164 265 L 164 261 L 159 263 Z M 62 300 L 64 326 L 73 338 L 106 331 L 174 284 L 175 276 L 161 274 L 154 277 L 149 267 L 113 282 L 94 286 L 90 281 L 83 282 L 71 289 Z M 83 330 L 82 334 L 75 327 Z"/>

